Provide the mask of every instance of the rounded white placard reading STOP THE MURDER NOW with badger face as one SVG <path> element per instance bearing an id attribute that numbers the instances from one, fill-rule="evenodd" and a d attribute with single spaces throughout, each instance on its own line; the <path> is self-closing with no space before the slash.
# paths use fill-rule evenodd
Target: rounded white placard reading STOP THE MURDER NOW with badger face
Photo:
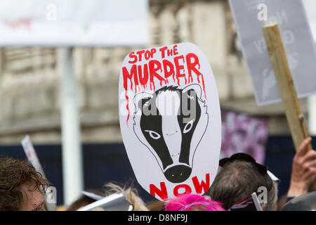
<path id="1" fill-rule="evenodd" d="M 197 46 L 126 56 L 119 122 L 136 179 L 148 193 L 166 199 L 209 189 L 220 155 L 220 105 L 211 66 Z"/>

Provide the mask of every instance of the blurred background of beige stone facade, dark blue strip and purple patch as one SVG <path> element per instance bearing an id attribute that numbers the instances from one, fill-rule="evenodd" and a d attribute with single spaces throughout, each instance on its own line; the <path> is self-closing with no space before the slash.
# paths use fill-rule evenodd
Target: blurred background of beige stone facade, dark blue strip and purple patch
<path id="1" fill-rule="evenodd" d="M 121 63 L 131 51 L 190 41 L 206 54 L 218 86 L 223 111 L 222 156 L 238 151 L 254 155 L 281 179 L 279 195 L 284 195 L 295 153 L 284 108 L 282 103 L 256 105 L 228 1 L 148 0 L 146 13 L 149 36 L 144 46 L 72 49 L 84 189 L 102 190 L 108 181 L 130 182 L 145 201 L 152 200 L 138 186 L 121 139 Z M 57 52 L 47 46 L 0 49 L 0 154 L 25 158 L 20 142 L 28 134 L 48 180 L 57 188 L 58 205 L 62 205 L 62 75 Z M 308 99 L 300 103 L 308 123 Z"/>

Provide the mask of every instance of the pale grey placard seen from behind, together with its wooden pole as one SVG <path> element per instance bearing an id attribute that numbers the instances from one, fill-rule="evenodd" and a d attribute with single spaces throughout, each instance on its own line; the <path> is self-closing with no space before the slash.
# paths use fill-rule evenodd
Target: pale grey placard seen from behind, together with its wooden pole
<path id="1" fill-rule="evenodd" d="M 237 1 L 230 0 L 230 6 L 254 84 L 256 101 L 258 105 L 264 105 L 282 99 L 298 152 L 301 143 L 308 138 L 298 97 L 309 96 L 316 90 L 316 83 L 312 82 L 316 72 L 313 63 L 316 61 L 315 44 L 303 2 L 244 0 L 237 4 Z M 265 76 L 265 72 L 269 75 Z M 312 150 L 310 144 L 306 148 Z M 316 181 L 310 185 L 310 191 L 315 190 Z"/>

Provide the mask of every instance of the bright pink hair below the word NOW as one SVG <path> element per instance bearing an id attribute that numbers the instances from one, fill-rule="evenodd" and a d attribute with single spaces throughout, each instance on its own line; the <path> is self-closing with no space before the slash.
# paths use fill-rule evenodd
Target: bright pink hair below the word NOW
<path id="1" fill-rule="evenodd" d="M 226 211 L 223 204 L 211 200 L 209 196 L 187 194 L 171 199 L 166 205 L 166 211 Z"/>

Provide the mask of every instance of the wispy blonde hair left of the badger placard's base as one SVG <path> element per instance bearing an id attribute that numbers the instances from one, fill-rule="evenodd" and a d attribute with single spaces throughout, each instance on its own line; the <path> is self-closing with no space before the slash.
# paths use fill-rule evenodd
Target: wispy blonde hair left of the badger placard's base
<path id="1" fill-rule="evenodd" d="M 122 188 L 113 183 L 105 184 L 105 188 L 107 188 L 107 191 L 105 191 L 106 196 L 124 192 L 126 200 L 134 206 L 134 211 L 149 211 L 145 206 L 145 203 L 143 203 L 143 200 L 139 198 L 136 188 L 132 188 L 131 186 L 129 188 L 126 188 L 126 186 Z"/>

